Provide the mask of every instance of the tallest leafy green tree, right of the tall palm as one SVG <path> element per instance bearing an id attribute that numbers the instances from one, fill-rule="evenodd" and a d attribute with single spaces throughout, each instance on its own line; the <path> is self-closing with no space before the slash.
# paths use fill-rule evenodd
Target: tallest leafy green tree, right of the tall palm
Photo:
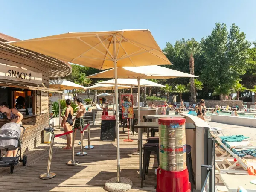
<path id="1" fill-rule="evenodd" d="M 235 24 L 228 31 L 225 24 L 216 23 L 201 44 L 205 58 L 201 79 L 223 99 L 245 73 L 250 42 Z"/>

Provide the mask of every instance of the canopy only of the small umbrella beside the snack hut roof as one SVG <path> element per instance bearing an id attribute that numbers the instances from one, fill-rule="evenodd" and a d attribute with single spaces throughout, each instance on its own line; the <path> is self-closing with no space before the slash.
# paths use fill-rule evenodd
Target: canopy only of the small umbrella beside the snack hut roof
<path id="1" fill-rule="evenodd" d="M 86 87 L 64 80 L 64 79 L 53 79 L 53 80 L 50 80 L 50 88 L 70 90 L 70 89 L 84 89 Z"/>

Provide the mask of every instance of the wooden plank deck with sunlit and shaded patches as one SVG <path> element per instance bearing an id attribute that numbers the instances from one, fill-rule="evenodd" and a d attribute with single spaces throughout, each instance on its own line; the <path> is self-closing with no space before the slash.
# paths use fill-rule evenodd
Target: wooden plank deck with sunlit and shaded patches
<path id="1" fill-rule="evenodd" d="M 58 137 L 54 142 L 51 172 L 56 177 L 42 180 L 39 175 L 46 172 L 49 144 L 40 144 L 34 149 L 27 151 L 28 164 L 15 166 L 14 173 L 10 169 L 0 169 L 0 189 L 7 192 L 103 192 L 105 182 L 116 177 L 116 141 L 100 141 L 100 125 L 90 126 L 91 145 L 94 149 L 87 150 L 86 156 L 78 157 L 79 165 L 67 166 L 66 162 L 71 160 L 71 150 L 62 149 L 66 145 L 65 136 Z M 126 130 L 126 129 L 125 129 Z M 63 131 L 56 131 L 55 133 Z M 84 132 L 84 146 L 87 145 L 87 131 Z M 143 135 L 145 139 L 146 134 Z M 132 180 L 133 187 L 129 191 L 155 192 L 156 175 L 152 168 L 157 167 L 156 156 L 151 156 L 151 164 L 148 175 L 145 178 L 143 189 L 140 188 L 141 179 L 138 174 L 139 156 L 130 154 L 137 147 L 137 135 L 131 137 L 133 142 L 124 142 L 128 136 L 122 133 L 120 128 L 120 159 L 121 177 Z M 76 136 L 75 152 L 79 152 L 80 134 Z M 145 142 L 145 140 L 144 140 Z M 84 150 L 85 151 L 85 150 Z"/>

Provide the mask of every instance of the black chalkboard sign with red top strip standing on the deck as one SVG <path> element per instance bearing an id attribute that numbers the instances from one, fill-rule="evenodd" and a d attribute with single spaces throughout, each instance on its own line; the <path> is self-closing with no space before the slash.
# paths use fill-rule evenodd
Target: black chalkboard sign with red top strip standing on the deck
<path id="1" fill-rule="evenodd" d="M 115 116 L 102 115 L 102 124 L 100 127 L 101 141 L 114 141 L 116 134 Z"/>

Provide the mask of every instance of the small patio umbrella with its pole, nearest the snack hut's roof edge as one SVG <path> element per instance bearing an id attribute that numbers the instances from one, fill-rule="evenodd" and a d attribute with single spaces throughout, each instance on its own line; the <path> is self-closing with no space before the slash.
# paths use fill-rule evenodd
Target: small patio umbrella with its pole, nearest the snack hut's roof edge
<path id="1" fill-rule="evenodd" d="M 80 84 L 67 81 L 65 79 L 52 79 L 50 80 L 50 88 L 60 89 L 60 90 L 70 90 L 70 89 L 84 89 L 86 87 Z M 59 93 L 59 128 L 61 128 L 61 93 Z"/>

